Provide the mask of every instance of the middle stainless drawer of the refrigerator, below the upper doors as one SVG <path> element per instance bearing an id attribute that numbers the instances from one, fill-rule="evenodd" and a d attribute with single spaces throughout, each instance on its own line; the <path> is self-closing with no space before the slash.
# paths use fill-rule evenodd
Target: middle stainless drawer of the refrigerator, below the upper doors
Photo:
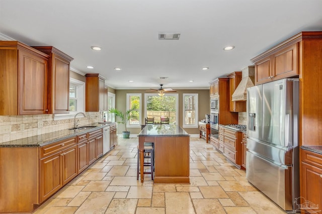
<path id="1" fill-rule="evenodd" d="M 274 144 L 247 139 L 247 148 L 258 155 L 264 156 L 276 165 L 285 167 L 293 163 L 293 148 L 278 147 Z"/>

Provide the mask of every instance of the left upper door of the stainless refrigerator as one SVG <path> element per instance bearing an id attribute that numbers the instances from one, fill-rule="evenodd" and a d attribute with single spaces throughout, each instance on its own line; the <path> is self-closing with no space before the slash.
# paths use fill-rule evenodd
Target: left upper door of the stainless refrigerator
<path id="1" fill-rule="evenodd" d="M 247 89 L 248 136 L 262 139 L 262 85 Z"/>

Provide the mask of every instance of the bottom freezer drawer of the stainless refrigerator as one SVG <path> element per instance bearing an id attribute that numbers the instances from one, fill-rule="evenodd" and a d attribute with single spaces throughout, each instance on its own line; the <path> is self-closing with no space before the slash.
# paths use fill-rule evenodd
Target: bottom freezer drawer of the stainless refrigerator
<path id="1" fill-rule="evenodd" d="M 286 211 L 294 210 L 292 171 L 292 166 L 280 167 L 247 151 L 248 181 Z"/>

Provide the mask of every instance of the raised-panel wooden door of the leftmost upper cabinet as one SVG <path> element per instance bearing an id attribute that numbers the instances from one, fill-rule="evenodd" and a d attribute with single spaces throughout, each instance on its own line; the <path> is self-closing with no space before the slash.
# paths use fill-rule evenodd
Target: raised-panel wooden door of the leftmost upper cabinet
<path id="1" fill-rule="evenodd" d="M 47 60 L 19 51 L 19 114 L 45 114 L 47 109 Z"/>

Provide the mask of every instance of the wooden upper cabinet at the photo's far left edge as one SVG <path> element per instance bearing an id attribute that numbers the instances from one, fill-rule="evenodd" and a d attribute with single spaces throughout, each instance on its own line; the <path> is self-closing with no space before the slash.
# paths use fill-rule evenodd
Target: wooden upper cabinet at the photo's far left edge
<path id="1" fill-rule="evenodd" d="M 47 113 L 48 55 L 0 41 L 0 62 L 0 115 Z"/>

